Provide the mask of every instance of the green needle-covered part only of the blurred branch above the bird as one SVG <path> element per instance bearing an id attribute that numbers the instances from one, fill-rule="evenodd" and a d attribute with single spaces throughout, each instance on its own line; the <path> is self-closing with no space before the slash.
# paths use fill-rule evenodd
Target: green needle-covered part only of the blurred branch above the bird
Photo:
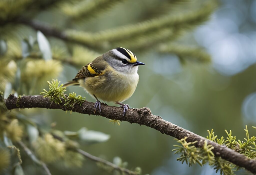
<path id="1" fill-rule="evenodd" d="M 216 1 L 209 1 L 200 9 L 185 14 L 165 15 L 96 33 L 73 29 L 67 29 L 65 33 L 71 40 L 94 47 L 104 43 L 105 45 L 114 45 L 127 39 L 137 39 L 138 37 L 150 39 L 151 35 L 154 35 L 156 31 L 161 31 L 165 28 L 172 29 L 178 27 L 182 30 L 193 29 L 195 26 L 207 21 L 216 6 Z"/>

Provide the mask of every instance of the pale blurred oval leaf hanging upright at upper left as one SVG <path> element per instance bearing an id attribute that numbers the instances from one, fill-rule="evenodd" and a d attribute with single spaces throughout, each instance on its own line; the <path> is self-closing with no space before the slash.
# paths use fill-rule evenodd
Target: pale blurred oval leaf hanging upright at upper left
<path id="1" fill-rule="evenodd" d="M 37 31 L 37 42 L 38 42 L 39 49 L 43 54 L 43 58 L 45 60 L 52 60 L 52 53 L 51 53 L 49 41 L 44 36 L 44 34 L 40 31 Z"/>

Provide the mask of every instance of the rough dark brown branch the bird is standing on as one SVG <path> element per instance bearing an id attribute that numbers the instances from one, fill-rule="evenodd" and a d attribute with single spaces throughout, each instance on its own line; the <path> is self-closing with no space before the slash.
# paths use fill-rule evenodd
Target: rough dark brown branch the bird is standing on
<path id="1" fill-rule="evenodd" d="M 15 108 L 47 108 L 47 109 L 61 109 L 63 111 L 72 110 L 82 114 L 89 115 L 101 115 L 108 119 L 115 119 L 121 121 L 128 121 L 130 123 L 137 123 L 140 125 L 146 125 L 163 134 L 182 139 L 187 137 L 187 142 L 194 142 L 196 147 L 203 147 L 204 141 L 207 140 L 193 132 L 183 129 L 173 123 L 163 120 L 160 116 L 153 115 L 149 108 L 144 107 L 140 109 L 129 109 L 126 115 L 123 117 L 123 109 L 119 107 L 101 105 L 101 114 L 96 112 L 94 114 L 94 103 L 85 101 L 81 106 L 75 104 L 72 107 L 64 106 L 64 99 L 62 104 L 52 103 L 49 98 L 43 96 L 21 96 L 19 98 L 14 95 L 10 95 L 7 99 L 4 99 L 7 109 Z M 247 158 L 245 155 L 239 154 L 226 146 L 219 145 L 215 142 L 207 140 L 209 145 L 212 145 L 214 149 L 212 152 L 215 156 L 232 162 L 235 165 L 244 167 L 245 169 L 256 173 L 256 160 Z"/>

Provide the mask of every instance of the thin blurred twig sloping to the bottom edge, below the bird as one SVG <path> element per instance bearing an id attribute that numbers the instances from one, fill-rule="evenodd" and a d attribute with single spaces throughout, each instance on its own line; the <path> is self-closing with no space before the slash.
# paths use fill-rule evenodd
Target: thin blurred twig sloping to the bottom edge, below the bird
<path id="1" fill-rule="evenodd" d="M 106 165 L 106 166 L 110 166 L 110 167 L 112 167 L 113 169 L 120 171 L 121 173 L 134 174 L 134 175 L 137 174 L 137 173 L 134 172 L 134 171 L 130 171 L 130 170 L 125 169 L 125 168 L 121 168 L 121 167 L 119 167 L 119 166 L 117 166 L 117 165 L 115 165 L 115 164 L 113 164 L 113 163 L 111 163 L 111 162 L 109 162 L 109 161 L 106 161 L 106 160 L 104 160 L 104 159 L 102 159 L 102 158 L 93 156 L 93 155 L 91 155 L 91 154 L 89 154 L 89 153 L 87 153 L 87 152 L 85 152 L 85 151 L 83 151 L 83 150 L 81 150 L 81 149 L 77 149 L 77 152 L 80 153 L 80 154 L 82 154 L 84 157 L 86 157 L 86 158 L 88 158 L 88 159 L 90 159 L 90 160 L 92 160 L 92 161 L 102 163 L 102 164 L 104 164 L 104 165 Z"/>

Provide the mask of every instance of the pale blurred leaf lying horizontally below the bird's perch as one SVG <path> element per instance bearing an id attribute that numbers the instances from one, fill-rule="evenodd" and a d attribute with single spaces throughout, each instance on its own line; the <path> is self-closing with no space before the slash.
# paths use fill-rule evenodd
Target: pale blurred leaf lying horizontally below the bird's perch
<path id="1" fill-rule="evenodd" d="M 107 141 L 110 138 L 110 135 L 99 131 L 92 131 L 82 128 L 78 131 L 78 137 L 81 141 L 88 144 L 93 144 Z"/>

